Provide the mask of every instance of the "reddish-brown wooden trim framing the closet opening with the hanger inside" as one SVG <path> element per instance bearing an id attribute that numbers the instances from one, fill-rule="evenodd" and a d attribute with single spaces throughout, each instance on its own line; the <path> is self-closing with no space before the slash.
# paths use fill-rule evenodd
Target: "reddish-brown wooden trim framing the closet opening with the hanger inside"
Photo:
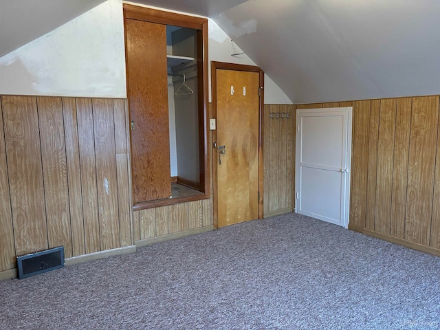
<path id="1" fill-rule="evenodd" d="M 201 74 L 198 82 L 198 104 L 199 104 L 199 169 L 200 169 L 200 191 L 203 195 L 180 197 L 174 199 L 157 199 L 136 203 L 133 210 L 155 208 L 165 205 L 173 205 L 188 201 L 197 201 L 210 198 L 210 157 L 208 151 L 208 19 L 192 17 L 185 14 L 166 12 L 153 8 L 145 8 L 137 5 L 122 4 L 124 12 L 124 30 L 126 30 L 126 19 L 135 19 L 164 25 L 175 25 L 182 28 L 197 30 L 197 71 Z M 126 39 L 125 52 L 126 48 Z M 127 91 L 129 90 L 128 78 L 126 79 Z M 131 120 L 131 119 L 129 119 Z M 131 140 L 130 140 L 131 144 Z M 131 148 L 130 148 L 131 150 Z"/>

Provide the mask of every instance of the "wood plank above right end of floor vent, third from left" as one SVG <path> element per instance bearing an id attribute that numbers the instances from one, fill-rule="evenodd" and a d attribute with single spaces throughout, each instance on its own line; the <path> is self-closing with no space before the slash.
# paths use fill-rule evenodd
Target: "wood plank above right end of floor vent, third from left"
<path id="1" fill-rule="evenodd" d="M 61 98 L 36 98 L 43 161 L 49 248 L 64 245 L 65 257 L 73 256 L 67 184 L 63 106 Z"/>

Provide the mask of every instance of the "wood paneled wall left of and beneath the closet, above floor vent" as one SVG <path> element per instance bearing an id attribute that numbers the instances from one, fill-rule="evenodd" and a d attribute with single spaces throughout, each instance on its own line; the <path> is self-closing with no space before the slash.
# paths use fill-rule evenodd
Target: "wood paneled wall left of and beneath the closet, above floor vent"
<path id="1" fill-rule="evenodd" d="M 132 212 L 126 100 L 0 101 L 0 272 L 59 245 L 69 258 L 212 225 L 210 199 Z"/>

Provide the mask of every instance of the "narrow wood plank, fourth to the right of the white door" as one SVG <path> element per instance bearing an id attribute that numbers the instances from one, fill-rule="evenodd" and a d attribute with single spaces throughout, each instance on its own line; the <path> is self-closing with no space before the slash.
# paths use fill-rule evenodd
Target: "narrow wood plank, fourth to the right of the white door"
<path id="1" fill-rule="evenodd" d="M 393 193 L 391 197 L 391 236 L 404 238 L 408 148 L 410 143 L 412 98 L 397 99 Z"/>

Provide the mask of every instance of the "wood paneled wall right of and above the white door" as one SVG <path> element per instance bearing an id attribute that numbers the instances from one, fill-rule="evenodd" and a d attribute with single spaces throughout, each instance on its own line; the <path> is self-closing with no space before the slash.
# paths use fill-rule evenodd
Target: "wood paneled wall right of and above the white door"
<path id="1" fill-rule="evenodd" d="M 440 255 L 439 96 L 353 107 L 349 228 Z"/>

